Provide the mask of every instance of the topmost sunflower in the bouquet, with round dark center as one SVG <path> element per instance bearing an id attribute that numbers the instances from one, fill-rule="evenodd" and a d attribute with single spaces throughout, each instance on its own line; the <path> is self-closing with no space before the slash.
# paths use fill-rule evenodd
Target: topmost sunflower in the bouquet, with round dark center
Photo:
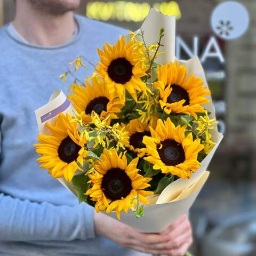
<path id="1" fill-rule="evenodd" d="M 125 37 L 118 39 L 114 46 L 108 43 L 103 45 L 103 51 L 98 49 L 101 62 L 95 70 L 99 76 L 105 79 L 106 83 L 115 90 L 121 99 L 125 101 L 125 90 L 127 90 L 137 101 L 136 91 L 146 91 L 147 86 L 140 79 L 146 76 L 148 66 L 141 45 L 131 39 L 127 44 Z"/>

